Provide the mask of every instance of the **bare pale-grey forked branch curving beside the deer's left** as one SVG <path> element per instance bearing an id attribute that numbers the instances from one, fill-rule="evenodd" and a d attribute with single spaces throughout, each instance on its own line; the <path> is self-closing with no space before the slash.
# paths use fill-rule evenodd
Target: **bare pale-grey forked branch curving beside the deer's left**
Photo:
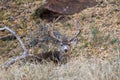
<path id="1" fill-rule="evenodd" d="M 12 60 L 6 62 L 5 64 L 2 65 L 3 68 L 8 68 L 11 64 L 15 63 L 16 61 L 18 60 L 21 60 L 21 59 L 24 59 L 26 58 L 27 56 L 33 56 L 32 54 L 29 54 L 28 50 L 26 49 L 25 45 L 23 44 L 22 40 L 20 39 L 20 37 L 13 31 L 11 30 L 9 27 L 5 26 L 3 28 L 0 28 L 0 31 L 2 30 L 7 30 L 9 32 L 11 32 L 15 37 L 16 39 L 19 41 L 22 49 L 23 49 L 23 53 L 22 55 L 20 56 L 17 56 L 15 58 L 13 58 Z"/>

